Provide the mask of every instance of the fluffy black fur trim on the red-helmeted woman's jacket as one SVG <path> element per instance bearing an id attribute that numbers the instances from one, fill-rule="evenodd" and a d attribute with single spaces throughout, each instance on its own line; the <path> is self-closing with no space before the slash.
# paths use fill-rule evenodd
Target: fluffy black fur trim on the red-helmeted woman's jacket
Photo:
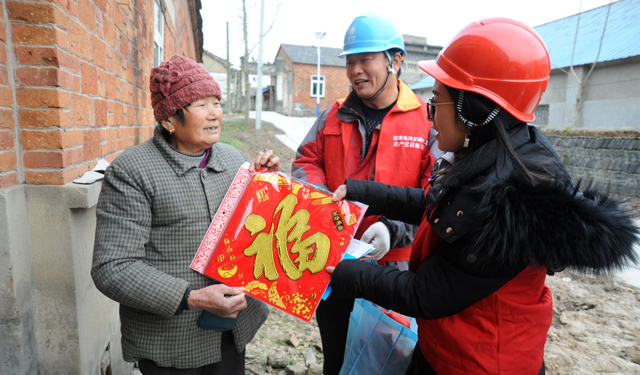
<path id="1" fill-rule="evenodd" d="M 561 182 L 531 186 L 511 179 L 492 186 L 478 211 L 478 259 L 609 273 L 637 263 L 639 229 L 618 202 Z"/>

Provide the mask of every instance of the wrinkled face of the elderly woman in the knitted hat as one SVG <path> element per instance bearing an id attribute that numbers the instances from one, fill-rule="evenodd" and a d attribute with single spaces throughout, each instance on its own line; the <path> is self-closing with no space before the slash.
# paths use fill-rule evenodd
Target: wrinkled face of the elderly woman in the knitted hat
<path id="1" fill-rule="evenodd" d="M 220 139 L 222 106 L 220 99 L 210 96 L 187 105 L 184 110 L 184 125 L 176 115 L 163 124 L 171 136 L 171 146 L 190 155 L 199 155 Z"/>

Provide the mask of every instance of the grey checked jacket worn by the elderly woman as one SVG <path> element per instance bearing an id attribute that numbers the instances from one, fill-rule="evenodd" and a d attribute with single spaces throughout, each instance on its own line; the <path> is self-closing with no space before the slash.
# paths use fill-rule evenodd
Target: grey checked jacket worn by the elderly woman
<path id="1" fill-rule="evenodd" d="M 205 168 L 189 165 L 156 128 L 106 170 L 97 206 L 91 276 L 120 303 L 126 361 L 194 368 L 220 361 L 221 333 L 196 326 L 201 310 L 175 312 L 189 286 L 217 283 L 189 268 L 244 155 L 225 144 L 211 148 Z M 247 296 L 233 336 L 238 351 L 268 316 Z"/>

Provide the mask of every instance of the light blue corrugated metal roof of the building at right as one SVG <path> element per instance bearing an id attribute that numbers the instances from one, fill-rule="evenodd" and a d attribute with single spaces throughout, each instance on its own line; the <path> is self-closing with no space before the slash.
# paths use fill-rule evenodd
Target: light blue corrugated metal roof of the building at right
<path id="1" fill-rule="evenodd" d="M 604 62 L 640 55 L 640 0 L 620 0 L 582 12 L 579 21 L 578 27 L 575 14 L 534 27 L 549 50 L 551 69 L 569 67 L 572 62 L 574 66 L 592 64 L 596 57 Z"/>

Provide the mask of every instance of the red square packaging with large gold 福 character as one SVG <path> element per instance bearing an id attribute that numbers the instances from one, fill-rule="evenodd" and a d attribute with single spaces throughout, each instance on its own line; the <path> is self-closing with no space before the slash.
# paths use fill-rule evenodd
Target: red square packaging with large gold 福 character
<path id="1" fill-rule="evenodd" d="M 245 163 L 191 268 L 308 322 L 366 209 Z"/>

